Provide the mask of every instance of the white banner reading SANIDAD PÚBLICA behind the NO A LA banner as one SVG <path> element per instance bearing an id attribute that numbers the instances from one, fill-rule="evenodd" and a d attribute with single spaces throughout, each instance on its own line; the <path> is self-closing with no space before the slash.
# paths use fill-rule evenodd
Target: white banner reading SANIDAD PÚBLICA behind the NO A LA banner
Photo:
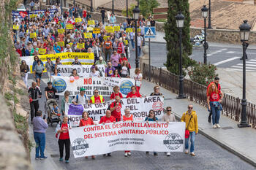
<path id="1" fill-rule="evenodd" d="M 102 73 L 102 77 L 105 77 L 105 65 L 97 65 L 97 68 L 99 72 Z M 61 76 L 69 77 L 70 74 L 72 74 L 72 70 L 76 69 L 80 77 L 89 77 L 91 72 L 91 65 L 58 65 L 57 69 Z"/>

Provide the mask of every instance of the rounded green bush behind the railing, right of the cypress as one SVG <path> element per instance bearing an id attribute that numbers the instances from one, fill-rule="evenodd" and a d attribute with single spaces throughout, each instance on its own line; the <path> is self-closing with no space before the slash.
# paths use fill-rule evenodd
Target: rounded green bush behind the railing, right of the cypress
<path id="1" fill-rule="evenodd" d="M 200 85 L 208 85 L 208 83 L 214 81 L 214 77 L 217 77 L 217 66 L 213 64 L 198 63 L 192 66 L 189 72 L 189 77 L 192 81 L 199 83 Z"/>

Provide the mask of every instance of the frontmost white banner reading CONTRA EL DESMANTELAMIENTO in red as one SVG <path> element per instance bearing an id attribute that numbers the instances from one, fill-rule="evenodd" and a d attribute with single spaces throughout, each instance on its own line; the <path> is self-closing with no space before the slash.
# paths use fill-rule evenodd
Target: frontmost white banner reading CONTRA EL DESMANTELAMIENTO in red
<path id="1" fill-rule="evenodd" d="M 182 152 L 185 123 L 119 122 L 69 130 L 75 158 L 118 150 Z"/>

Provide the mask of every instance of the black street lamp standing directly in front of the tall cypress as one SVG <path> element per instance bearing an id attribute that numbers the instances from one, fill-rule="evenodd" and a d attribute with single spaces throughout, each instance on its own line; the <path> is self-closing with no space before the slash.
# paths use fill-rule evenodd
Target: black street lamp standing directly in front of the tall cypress
<path id="1" fill-rule="evenodd" d="M 182 74 L 182 47 L 181 47 L 181 33 L 182 28 L 184 27 L 184 20 L 185 17 L 182 15 L 181 12 L 178 12 L 178 15 L 176 15 L 176 25 L 179 30 L 179 90 L 178 90 L 178 96 L 177 98 L 186 98 L 186 96 L 183 93 L 184 85 L 183 85 L 183 74 Z"/>

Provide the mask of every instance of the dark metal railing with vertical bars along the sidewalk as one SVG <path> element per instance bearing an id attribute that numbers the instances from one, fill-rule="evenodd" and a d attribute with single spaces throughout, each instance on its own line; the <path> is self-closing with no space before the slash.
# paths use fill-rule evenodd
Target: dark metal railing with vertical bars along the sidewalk
<path id="1" fill-rule="evenodd" d="M 151 72 L 151 80 L 148 79 L 149 70 Z M 178 75 L 176 74 L 156 66 L 151 66 L 149 69 L 148 64 L 143 63 L 143 78 L 178 94 Z M 206 90 L 206 86 L 184 79 L 184 93 L 186 97 L 203 107 L 207 106 Z M 225 93 L 222 98 L 222 108 L 222 115 L 238 122 L 241 120 L 241 99 Z M 252 125 L 252 128 L 256 128 L 256 105 L 247 102 L 246 113 L 248 123 Z"/>

